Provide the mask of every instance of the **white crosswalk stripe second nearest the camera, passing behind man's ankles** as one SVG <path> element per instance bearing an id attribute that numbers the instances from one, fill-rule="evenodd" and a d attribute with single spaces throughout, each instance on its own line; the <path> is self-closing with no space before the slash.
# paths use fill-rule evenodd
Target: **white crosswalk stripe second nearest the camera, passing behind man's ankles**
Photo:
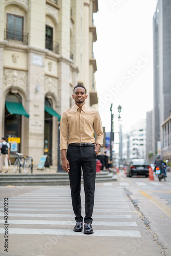
<path id="1" fill-rule="evenodd" d="M 4 220 L 0 220 L 4 224 Z M 21 225 L 75 225 L 75 221 L 49 221 L 49 220 L 8 220 L 8 224 Z M 93 226 L 130 226 L 137 227 L 136 222 L 119 222 L 119 221 L 93 221 Z"/>

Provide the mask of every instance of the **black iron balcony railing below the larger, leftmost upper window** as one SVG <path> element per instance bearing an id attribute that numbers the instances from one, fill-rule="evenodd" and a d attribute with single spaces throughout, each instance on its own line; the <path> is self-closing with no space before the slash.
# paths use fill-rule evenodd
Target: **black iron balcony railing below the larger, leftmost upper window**
<path id="1" fill-rule="evenodd" d="M 15 31 L 11 29 L 4 29 L 4 39 L 21 41 L 24 45 L 28 45 L 28 33 Z"/>

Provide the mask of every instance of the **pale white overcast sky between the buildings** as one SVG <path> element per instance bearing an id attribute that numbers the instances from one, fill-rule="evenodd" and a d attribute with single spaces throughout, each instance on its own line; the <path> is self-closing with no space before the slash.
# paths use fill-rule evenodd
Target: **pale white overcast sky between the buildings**
<path id="1" fill-rule="evenodd" d="M 152 19 L 156 4 L 157 0 L 98 0 L 93 51 L 99 112 L 107 132 L 111 103 L 115 126 L 121 105 L 127 129 L 153 108 Z"/>

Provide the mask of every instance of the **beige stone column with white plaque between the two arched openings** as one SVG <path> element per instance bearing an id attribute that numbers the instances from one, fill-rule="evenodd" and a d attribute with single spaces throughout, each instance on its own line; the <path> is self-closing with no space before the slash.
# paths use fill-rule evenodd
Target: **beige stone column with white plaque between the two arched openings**
<path id="1" fill-rule="evenodd" d="M 33 157 L 35 165 L 44 154 L 44 57 L 46 50 L 28 53 L 28 98 L 27 111 L 30 115 L 25 120 L 25 148 L 29 156 Z"/>

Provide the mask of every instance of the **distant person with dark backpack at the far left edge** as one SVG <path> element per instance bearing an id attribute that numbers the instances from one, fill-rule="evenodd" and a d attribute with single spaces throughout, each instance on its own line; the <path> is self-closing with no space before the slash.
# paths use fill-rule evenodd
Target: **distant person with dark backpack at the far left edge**
<path id="1" fill-rule="evenodd" d="M 10 158 L 10 145 L 8 142 L 6 142 L 5 137 L 1 139 L 0 150 L 1 150 L 0 173 L 2 172 L 3 164 L 5 164 L 5 173 L 7 173 L 8 159 Z"/>

